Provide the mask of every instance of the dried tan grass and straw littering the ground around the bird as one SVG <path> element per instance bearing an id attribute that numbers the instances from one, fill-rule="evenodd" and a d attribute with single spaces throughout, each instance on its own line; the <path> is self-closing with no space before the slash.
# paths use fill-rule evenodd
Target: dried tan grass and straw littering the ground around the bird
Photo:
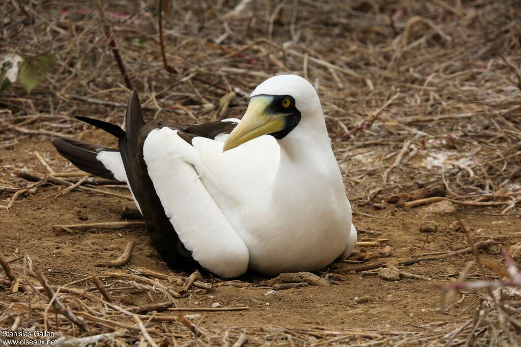
<path id="1" fill-rule="evenodd" d="M 140 91 L 147 117 L 183 123 L 240 117 L 247 93 L 259 82 L 276 73 L 295 72 L 308 78 L 321 96 L 353 205 L 441 183 L 448 198 L 469 206 L 465 208 L 502 202 L 503 214 L 518 211 L 518 1 L 172 2 L 163 13 L 171 72 L 159 48 L 155 2 L 102 4 L 103 23 L 91 3 L 6 1 L 0 9 L 6 14 L 0 52 L 59 55 L 58 65 L 31 95 L 19 85 L 0 95 L 0 148 L 27 138 L 77 137 L 89 126 L 72 118 L 76 115 L 123 121 L 128 83 L 102 29 L 106 24 L 131 84 Z M 82 179 L 61 179 L 53 172 L 41 177 L 4 165 L 0 194 L 10 200 L 0 208 L 16 206 L 17 197 L 49 183 L 129 199 L 110 191 L 115 188 L 87 185 L 103 184 L 99 180 L 79 182 Z M 487 323 L 490 328 L 483 324 L 495 322 L 500 309 L 511 312 L 511 333 L 519 328 L 518 304 L 490 306 L 484 299 L 462 326 L 433 324 L 428 332 L 212 330 L 202 327 L 196 315 L 134 314 L 129 307 L 105 301 L 91 277 L 54 286 L 51 301 L 71 309 L 89 327 L 86 332 L 49 304 L 33 276 L 30 258 L 22 260 L 24 266 L 13 269 L 15 282 L 0 278 L 0 329 L 16 330 L 30 321 L 28 329 L 52 327 L 60 338 L 75 343 L 450 345 L 479 337 L 499 344 L 503 338 L 512 341 L 512 336 L 498 334 L 495 323 Z M 181 277 L 125 271 L 97 276 L 107 290 L 159 291 L 172 302 L 172 293 L 180 295 L 185 283 Z"/>

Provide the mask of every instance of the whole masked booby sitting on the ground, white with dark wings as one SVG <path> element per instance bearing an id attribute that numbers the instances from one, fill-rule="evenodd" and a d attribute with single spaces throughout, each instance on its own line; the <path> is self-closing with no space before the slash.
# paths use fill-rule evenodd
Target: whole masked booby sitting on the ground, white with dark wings
<path id="1" fill-rule="evenodd" d="M 125 130 L 77 117 L 119 139 L 119 150 L 53 139 L 78 168 L 125 181 L 156 249 L 173 268 L 220 277 L 313 271 L 348 257 L 351 205 L 317 92 L 272 77 L 242 120 L 199 125 L 144 121 L 137 93 Z"/>

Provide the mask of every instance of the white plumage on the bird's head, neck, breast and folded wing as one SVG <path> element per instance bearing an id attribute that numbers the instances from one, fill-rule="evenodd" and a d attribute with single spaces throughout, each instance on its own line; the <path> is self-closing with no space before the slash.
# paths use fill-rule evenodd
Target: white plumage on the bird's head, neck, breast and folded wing
<path id="1" fill-rule="evenodd" d="M 226 137 L 152 131 L 148 172 L 187 249 L 223 277 L 318 270 L 351 254 L 356 230 L 318 95 L 306 80 L 270 78 L 258 94 L 291 95 L 302 114 L 286 137 L 263 135 L 222 152 Z"/>

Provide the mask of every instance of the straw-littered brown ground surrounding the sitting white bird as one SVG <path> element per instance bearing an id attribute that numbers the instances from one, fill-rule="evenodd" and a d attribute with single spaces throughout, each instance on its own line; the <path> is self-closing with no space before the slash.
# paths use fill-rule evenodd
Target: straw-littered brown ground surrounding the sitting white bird
<path id="1" fill-rule="evenodd" d="M 519 345 L 520 10 L 508 0 L 2 2 L 0 55 L 45 64 L 0 93 L 0 339 Z M 359 233 L 348 260 L 314 274 L 171 270 L 126 186 L 72 167 L 50 142 L 116 146 L 73 117 L 121 124 L 133 88 L 146 119 L 240 118 L 279 73 L 318 91 Z"/>

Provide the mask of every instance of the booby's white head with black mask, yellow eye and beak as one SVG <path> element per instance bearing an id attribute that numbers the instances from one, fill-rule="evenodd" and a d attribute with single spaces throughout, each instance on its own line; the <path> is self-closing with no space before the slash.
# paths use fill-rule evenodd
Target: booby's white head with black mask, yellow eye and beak
<path id="1" fill-rule="evenodd" d="M 262 135 L 280 140 L 299 125 L 301 119 L 322 115 L 313 85 L 296 75 L 267 79 L 250 95 L 241 121 L 230 133 L 222 151 L 228 151 Z"/>

